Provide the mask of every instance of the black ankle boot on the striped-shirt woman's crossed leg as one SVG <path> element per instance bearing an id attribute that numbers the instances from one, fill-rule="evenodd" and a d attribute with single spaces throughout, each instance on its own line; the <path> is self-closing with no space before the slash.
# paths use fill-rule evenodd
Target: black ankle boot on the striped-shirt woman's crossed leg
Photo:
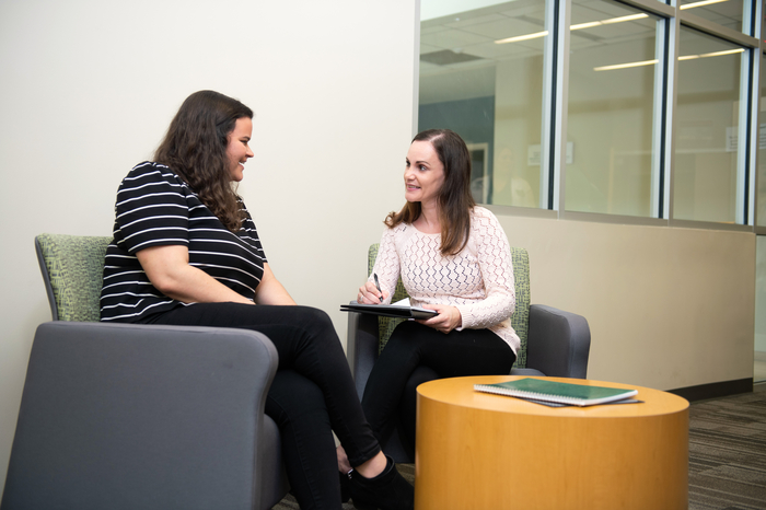
<path id="1" fill-rule="evenodd" d="M 394 460 L 385 457 L 385 470 L 374 478 L 351 472 L 348 489 L 353 506 L 360 510 L 413 510 L 415 488 L 396 471 Z"/>

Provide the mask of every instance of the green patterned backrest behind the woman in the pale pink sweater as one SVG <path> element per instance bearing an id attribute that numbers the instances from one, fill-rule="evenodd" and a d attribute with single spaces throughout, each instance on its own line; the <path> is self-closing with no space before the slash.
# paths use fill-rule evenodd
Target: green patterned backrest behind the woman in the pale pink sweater
<path id="1" fill-rule="evenodd" d="M 378 244 L 372 244 L 367 255 L 367 274 L 372 274 L 378 257 Z M 515 283 L 517 305 L 511 315 L 511 326 L 519 335 L 521 347 L 517 352 L 515 368 L 526 367 L 526 338 L 530 332 L 530 257 L 524 248 L 511 247 L 511 260 L 513 263 L 513 279 Z M 402 279 L 396 283 L 396 290 L 392 302 L 408 298 L 407 291 L 402 283 Z M 394 328 L 403 318 L 378 317 L 379 353 L 385 347 L 386 341 L 394 332 Z"/>

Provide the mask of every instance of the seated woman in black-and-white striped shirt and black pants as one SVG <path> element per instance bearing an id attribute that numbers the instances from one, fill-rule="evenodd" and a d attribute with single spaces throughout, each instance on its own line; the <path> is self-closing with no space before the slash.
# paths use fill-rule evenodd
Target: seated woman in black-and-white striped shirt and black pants
<path id="1" fill-rule="evenodd" d="M 234 192 L 253 157 L 252 117 L 236 100 L 196 92 L 181 106 L 154 161 L 123 179 L 104 267 L 102 321 L 265 334 L 279 353 L 266 413 L 280 427 L 301 508 L 340 508 L 334 430 L 355 466 L 355 505 L 411 509 L 413 487 L 367 424 L 329 317 L 295 305 Z"/>

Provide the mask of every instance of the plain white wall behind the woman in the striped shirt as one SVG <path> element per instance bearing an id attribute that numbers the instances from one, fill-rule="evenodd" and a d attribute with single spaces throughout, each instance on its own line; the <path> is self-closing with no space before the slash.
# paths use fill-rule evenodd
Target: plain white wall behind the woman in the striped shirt
<path id="1" fill-rule="evenodd" d="M 192 92 L 255 111 L 240 192 L 277 276 L 345 340 L 338 305 L 403 202 L 414 28 L 414 0 L 0 2 L 0 480 L 50 318 L 34 235 L 108 234 L 119 181 Z"/>

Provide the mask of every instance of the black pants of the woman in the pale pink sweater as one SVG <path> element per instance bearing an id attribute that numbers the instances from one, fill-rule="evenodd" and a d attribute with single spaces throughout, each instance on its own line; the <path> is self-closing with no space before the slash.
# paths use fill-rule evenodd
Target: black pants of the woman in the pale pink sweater
<path id="1" fill-rule="evenodd" d="M 436 379 L 508 374 L 517 357 L 489 329 L 446 335 L 416 322 L 396 326 L 378 358 L 362 396 L 362 409 L 381 443 L 396 426 L 415 448 L 416 389 Z"/>

